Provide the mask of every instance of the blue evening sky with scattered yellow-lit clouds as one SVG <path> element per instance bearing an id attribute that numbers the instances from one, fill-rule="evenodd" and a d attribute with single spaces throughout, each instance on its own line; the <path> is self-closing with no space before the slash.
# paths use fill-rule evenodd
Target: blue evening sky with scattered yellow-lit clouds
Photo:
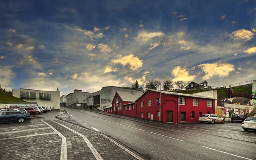
<path id="1" fill-rule="evenodd" d="M 0 83 L 69 94 L 256 79 L 254 0 L 0 0 Z"/>

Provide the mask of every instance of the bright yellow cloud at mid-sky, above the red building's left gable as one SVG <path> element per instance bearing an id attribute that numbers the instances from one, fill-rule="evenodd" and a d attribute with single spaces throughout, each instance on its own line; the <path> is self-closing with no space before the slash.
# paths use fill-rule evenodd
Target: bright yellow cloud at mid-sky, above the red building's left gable
<path id="1" fill-rule="evenodd" d="M 131 70 L 136 70 L 142 67 L 143 60 L 140 60 L 138 57 L 134 57 L 133 54 L 122 57 L 122 55 L 118 55 L 116 60 L 111 60 L 112 63 L 121 63 L 124 67 L 126 65 L 130 65 Z"/>

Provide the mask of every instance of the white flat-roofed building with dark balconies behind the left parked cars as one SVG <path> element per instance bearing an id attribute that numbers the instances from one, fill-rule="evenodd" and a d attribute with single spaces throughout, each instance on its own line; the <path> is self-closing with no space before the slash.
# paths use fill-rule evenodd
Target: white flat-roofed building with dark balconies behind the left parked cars
<path id="1" fill-rule="evenodd" d="M 26 102 L 37 102 L 38 106 L 52 106 L 54 109 L 60 109 L 59 91 L 13 89 L 12 95 L 17 98 L 23 98 Z"/>

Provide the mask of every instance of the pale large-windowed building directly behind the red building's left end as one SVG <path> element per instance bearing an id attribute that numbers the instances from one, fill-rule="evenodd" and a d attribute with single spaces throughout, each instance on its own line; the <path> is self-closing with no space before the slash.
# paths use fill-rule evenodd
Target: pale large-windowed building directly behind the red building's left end
<path id="1" fill-rule="evenodd" d="M 103 87 L 100 90 L 100 107 L 97 109 L 104 111 L 104 108 L 107 106 L 110 106 L 112 103 L 112 100 L 116 94 L 116 91 L 134 91 L 135 93 L 143 94 L 143 89 L 134 90 L 129 87 L 116 87 L 116 86 L 107 86 Z"/>

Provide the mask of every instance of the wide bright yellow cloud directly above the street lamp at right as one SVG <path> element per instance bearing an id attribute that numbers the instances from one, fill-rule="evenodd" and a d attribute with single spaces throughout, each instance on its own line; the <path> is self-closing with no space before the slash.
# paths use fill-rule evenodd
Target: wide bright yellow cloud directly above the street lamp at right
<path id="1" fill-rule="evenodd" d="M 204 63 L 199 65 L 202 71 L 205 73 L 203 79 L 207 79 L 209 76 L 228 77 L 230 72 L 235 71 L 235 67 L 230 63 Z"/>

